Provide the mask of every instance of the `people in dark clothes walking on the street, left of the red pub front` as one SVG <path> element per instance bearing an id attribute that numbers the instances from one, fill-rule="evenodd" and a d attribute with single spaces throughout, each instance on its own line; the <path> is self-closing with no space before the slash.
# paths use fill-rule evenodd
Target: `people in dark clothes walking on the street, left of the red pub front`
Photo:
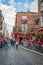
<path id="1" fill-rule="evenodd" d="M 18 49 L 18 46 L 22 45 L 22 43 L 16 39 L 5 38 L 4 40 L 0 40 L 0 48 L 16 46 L 16 49 Z"/>

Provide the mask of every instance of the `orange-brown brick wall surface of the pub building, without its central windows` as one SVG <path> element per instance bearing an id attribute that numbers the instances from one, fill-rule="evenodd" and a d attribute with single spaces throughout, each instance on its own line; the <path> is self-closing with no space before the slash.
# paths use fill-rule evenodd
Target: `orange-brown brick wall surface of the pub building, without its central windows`
<path id="1" fill-rule="evenodd" d="M 36 27 L 36 17 L 38 17 L 38 13 L 33 12 L 18 12 L 16 15 L 16 23 L 15 26 L 17 28 L 22 28 L 22 16 L 26 16 L 26 24 L 27 24 L 27 30 L 30 30 L 32 28 Z"/>

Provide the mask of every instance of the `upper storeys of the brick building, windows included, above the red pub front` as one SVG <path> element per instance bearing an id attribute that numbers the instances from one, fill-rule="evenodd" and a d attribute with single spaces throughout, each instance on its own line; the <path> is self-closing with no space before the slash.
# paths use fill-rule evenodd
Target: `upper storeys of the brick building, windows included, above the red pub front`
<path id="1" fill-rule="evenodd" d="M 18 12 L 15 22 L 16 30 L 27 32 L 38 27 L 38 13 Z"/>

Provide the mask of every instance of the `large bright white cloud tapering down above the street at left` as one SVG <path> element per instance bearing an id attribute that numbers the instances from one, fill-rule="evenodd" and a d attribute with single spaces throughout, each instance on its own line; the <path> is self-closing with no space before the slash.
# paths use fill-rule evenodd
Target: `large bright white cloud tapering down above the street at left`
<path id="1" fill-rule="evenodd" d="M 0 9 L 2 10 L 2 14 L 4 16 L 4 21 L 7 25 L 8 31 L 11 32 L 15 22 L 15 8 L 13 6 L 7 6 L 0 3 Z"/>

